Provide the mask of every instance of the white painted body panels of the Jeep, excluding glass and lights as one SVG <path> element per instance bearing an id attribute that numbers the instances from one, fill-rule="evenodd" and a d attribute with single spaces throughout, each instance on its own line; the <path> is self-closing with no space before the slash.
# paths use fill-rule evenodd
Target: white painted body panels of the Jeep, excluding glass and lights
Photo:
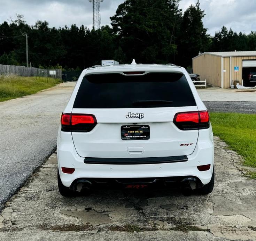
<path id="1" fill-rule="evenodd" d="M 73 108 L 79 86 L 87 74 L 121 73 L 125 71 L 183 73 L 192 91 L 196 106 L 160 108 Z M 202 184 L 211 180 L 214 164 L 214 143 L 211 125 L 202 130 L 180 130 L 174 123 L 176 113 L 207 110 L 201 101 L 187 71 L 168 65 L 116 65 L 83 70 L 63 113 L 92 114 L 97 124 L 90 132 L 65 132 L 59 128 L 57 138 L 58 167 L 61 181 L 69 187 L 77 178 L 139 178 L 195 176 Z M 130 113 L 143 113 L 142 118 L 127 118 Z M 122 140 L 122 125 L 150 126 L 149 140 Z M 102 135 L 104 133 L 104 135 Z M 181 145 L 192 143 L 191 145 Z M 85 164 L 86 157 L 93 158 L 144 158 L 182 156 L 186 162 L 161 164 Z M 197 166 L 211 164 L 208 171 L 199 171 Z M 62 172 L 61 167 L 75 168 L 73 174 Z"/>

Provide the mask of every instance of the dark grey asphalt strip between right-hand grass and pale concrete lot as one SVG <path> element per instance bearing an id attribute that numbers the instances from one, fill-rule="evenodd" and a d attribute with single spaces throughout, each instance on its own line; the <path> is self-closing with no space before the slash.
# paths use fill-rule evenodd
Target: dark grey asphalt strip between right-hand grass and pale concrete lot
<path id="1" fill-rule="evenodd" d="M 236 112 L 256 114 L 255 101 L 204 101 L 204 105 L 210 112 Z"/>

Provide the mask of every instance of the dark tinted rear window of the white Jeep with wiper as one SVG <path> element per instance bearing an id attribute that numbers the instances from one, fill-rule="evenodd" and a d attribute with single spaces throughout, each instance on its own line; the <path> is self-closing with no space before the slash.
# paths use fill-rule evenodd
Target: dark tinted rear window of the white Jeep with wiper
<path id="1" fill-rule="evenodd" d="M 156 103 L 154 100 L 157 100 Z M 145 105 L 141 105 L 141 101 L 145 101 Z M 135 105 L 135 102 L 140 102 L 140 105 Z M 73 108 L 149 108 L 195 105 L 195 99 L 186 77 L 180 73 L 148 73 L 141 76 L 91 74 L 84 76 Z"/>

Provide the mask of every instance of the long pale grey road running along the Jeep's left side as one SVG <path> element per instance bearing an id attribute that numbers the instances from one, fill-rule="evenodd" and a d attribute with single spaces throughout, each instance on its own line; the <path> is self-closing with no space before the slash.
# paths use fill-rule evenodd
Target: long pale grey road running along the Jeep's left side
<path id="1" fill-rule="evenodd" d="M 0 103 L 0 210 L 51 155 L 74 83 Z"/>

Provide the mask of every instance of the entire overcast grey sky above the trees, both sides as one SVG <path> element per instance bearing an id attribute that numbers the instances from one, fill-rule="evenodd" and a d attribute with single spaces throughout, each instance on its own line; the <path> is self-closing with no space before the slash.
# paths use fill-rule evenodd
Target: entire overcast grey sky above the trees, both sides
<path id="1" fill-rule="evenodd" d="M 101 23 L 110 24 L 110 16 L 124 0 L 104 0 L 101 3 Z M 180 8 L 186 10 L 196 0 L 181 0 Z M 201 0 L 205 10 L 204 27 L 214 35 L 224 25 L 236 32 L 256 31 L 256 0 Z M 75 23 L 92 28 L 92 3 L 88 0 L 0 0 L 0 23 L 17 14 L 33 25 L 38 19 L 47 20 L 49 26 L 63 27 Z"/>

